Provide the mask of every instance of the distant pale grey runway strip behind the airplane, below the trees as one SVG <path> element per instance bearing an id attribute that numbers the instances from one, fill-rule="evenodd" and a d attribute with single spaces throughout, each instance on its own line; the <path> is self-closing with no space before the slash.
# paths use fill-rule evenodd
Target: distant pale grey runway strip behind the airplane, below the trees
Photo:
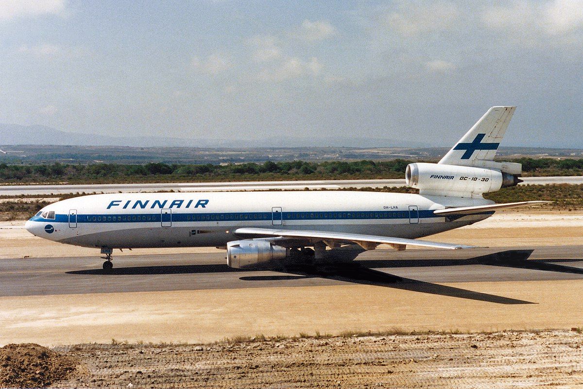
<path id="1" fill-rule="evenodd" d="M 524 177 L 520 185 L 583 184 L 583 176 Z M 0 185 L 0 196 L 157 192 L 157 191 L 257 191 L 402 187 L 405 180 L 319 180 L 319 181 L 249 181 L 232 183 L 163 183 L 163 184 L 87 184 L 87 185 Z"/>

